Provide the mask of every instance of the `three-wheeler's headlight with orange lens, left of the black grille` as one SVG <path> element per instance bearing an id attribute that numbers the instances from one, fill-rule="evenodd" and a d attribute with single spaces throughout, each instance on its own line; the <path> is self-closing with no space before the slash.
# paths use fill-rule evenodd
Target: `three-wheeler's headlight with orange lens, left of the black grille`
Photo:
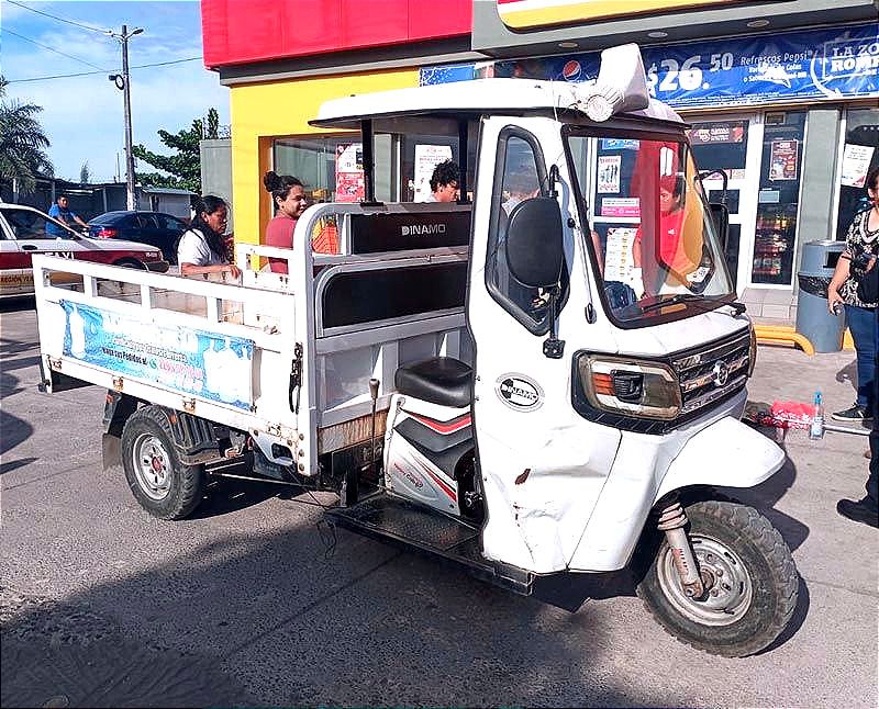
<path id="1" fill-rule="evenodd" d="M 577 369 L 583 392 L 596 408 L 660 420 L 680 414 L 680 384 L 666 364 L 583 354 Z"/>

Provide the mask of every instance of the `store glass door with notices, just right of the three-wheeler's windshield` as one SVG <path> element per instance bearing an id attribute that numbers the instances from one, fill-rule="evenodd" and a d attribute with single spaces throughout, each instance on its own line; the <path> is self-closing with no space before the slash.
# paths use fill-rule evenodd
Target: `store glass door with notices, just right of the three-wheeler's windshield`
<path id="1" fill-rule="evenodd" d="M 736 283 L 738 254 L 742 244 L 742 225 L 750 223 L 746 192 L 746 162 L 748 151 L 748 117 L 723 121 L 698 121 L 689 131 L 696 164 L 705 175 L 702 182 L 709 202 L 720 202 L 723 195 L 723 178 L 726 175 L 726 205 L 730 207 L 730 238 L 726 241 L 726 265 Z M 711 175 L 706 175 L 706 173 Z M 747 243 L 747 241 L 745 241 Z"/>

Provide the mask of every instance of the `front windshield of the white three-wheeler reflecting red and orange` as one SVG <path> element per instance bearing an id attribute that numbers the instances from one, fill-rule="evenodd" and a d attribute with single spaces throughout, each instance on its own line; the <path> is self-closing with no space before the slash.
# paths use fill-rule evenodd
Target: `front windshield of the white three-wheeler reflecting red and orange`
<path id="1" fill-rule="evenodd" d="M 682 317 L 733 293 L 699 173 L 683 138 L 566 136 L 605 305 L 627 325 Z"/>

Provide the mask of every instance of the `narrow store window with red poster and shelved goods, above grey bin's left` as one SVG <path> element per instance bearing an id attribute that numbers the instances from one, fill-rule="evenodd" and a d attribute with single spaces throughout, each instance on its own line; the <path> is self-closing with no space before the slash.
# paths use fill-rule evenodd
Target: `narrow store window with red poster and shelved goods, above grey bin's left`
<path id="1" fill-rule="evenodd" d="M 805 111 L 766 114 L 752 283 L 792 283 L 804 135 Z"/>

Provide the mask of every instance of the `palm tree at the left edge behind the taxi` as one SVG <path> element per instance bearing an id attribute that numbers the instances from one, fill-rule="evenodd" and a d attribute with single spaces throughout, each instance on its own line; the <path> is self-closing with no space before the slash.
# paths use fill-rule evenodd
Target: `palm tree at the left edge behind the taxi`
<path id="1" fill-rule="evenodd" d="M 5 98 L 7 80 L 0 76 L 0 98 Z M 33 192 L 38 175 L 54 172 L 45 153 L 49 139 L 36 114 L 43 106 L 21 101 L 0 101 L 0 176 L 18 181 L 22 192 Z"/>

